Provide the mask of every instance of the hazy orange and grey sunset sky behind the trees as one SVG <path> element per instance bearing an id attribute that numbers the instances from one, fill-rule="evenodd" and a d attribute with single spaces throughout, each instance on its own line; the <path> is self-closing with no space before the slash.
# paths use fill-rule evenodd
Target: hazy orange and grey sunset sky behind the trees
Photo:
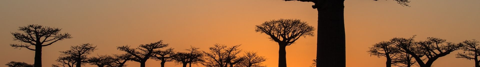
<path id="1" fill-rule="evenodd" d="M 384 67 L 384 57 L 371 57 L 372 44 L 391 38 L 427 37 L 461 42 L 480 39 L 480 0 L 411 0 L 403 7 L 393 0 L 345 0 L 347 67 Z M 0 64 L 33 64 L 34 51 L 14 49 L 10 32 L 28 24 L 61 28 L 72 34 L 44 47 L 43 66 L 56 64 L 60 52 L 84 43 L 97 45 L 90 56 L 124 53 L 116 47 L 138 46 L 158 40 L 176 51 L 214 44 L 240 45 L 257 51 L 277 67 L 278 45 L 254 26 L 271 19 L 301 19 L 315 28 L 312 2 L 283 0 L 0 0 Z M 316 36 L 300 38 L 287 47 L 288 67 L 308 67 L 314 59 Z M 472 60 L 455 58 L 460 50 L 434 62 L 435 67 L 473 67 Z M 149 59 L 147 67 L 159 67 Z M 138 62 L 127 62 L 139 67 Z M 94 67 L 87 65 L 86 67 Z M 167 62 L 166 67 L 181 67 Z M 197 67 L 197 66 L 192 66 Z M 202 66 L 200 66 L 202 67 Z"/>

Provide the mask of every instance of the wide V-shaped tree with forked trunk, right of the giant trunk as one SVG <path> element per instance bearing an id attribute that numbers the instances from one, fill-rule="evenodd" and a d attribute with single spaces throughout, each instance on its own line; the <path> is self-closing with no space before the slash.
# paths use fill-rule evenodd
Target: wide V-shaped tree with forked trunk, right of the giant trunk
<path id="1" fill-rule="evenodd" d="M 446 42 L 441 38 L 427 38 L 425 41 L 414 41 L 412 38 L 392 38 L 390 41 L 401 48 L 400 51 L 408 53 L 417 61 L 420 67 L 431 67 L 433 61 L 444 57 L 462 47 L 461 44 Z M 426 62 L 424 62 L 426 60 Z"/>

